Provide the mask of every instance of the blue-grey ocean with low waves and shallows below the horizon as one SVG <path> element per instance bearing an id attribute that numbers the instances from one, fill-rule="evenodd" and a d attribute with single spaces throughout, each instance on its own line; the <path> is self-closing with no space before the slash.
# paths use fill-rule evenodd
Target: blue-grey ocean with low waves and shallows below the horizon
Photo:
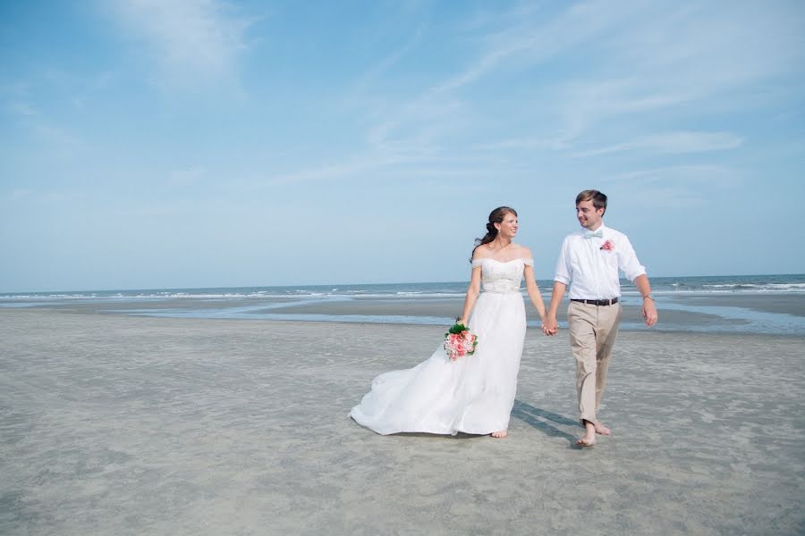
<path id="1" fill-rule="evenodd" d="M 552 281 L 538 281 L 547 300 Z M 623 330 L 645 329 L 640 293 L 622 281 Z M 805 274 L 652 277 L 658 331 L 805 334 Z M 0 307 L 45 307 L 162 317 L 443 325 L 467 283 L 293 285 L 0 294 Z M 528 306 L 531 308 L 530 306 Z M 631 311 L 635 309 L 635 311 Z M 631 311 L 631 312 L 630 312 Z M 560 325 L 562 325 L 560 317 Z M 538 325 L 530 314 L 530 325 Z"/>

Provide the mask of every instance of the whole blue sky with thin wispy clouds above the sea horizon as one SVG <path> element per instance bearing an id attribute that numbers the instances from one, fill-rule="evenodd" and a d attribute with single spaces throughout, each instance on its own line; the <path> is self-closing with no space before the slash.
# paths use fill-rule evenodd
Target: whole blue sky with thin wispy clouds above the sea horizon
<path id="1" fill-rule="evenodd" d="M 0 3 L 0 291 L 805 272 L 801 2 Z"/>

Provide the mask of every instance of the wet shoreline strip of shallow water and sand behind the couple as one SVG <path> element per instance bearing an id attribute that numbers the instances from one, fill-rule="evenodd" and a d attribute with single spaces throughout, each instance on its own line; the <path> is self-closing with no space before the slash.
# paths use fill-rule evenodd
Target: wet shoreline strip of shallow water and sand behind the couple
<path id="1" fill-rule="evenodd" d="M 549 297 L 545 297 L 549 299 Z M 530 326 L 538 315 L 525 299 Z M 201 297 L 17 300 L 0 303 L 0 310 L 42 309 L 75 313 L 132 316 L 271 320 L 291 322 L 349 322 L 377 324 L 450 325 L 461 313 L 463 297 Z M 564 325 L 567 297 L 559 308 Z M 624 296 L 622 331 L 646 329 L 640 297 Z M 805 334 L 805 293 L 709 296 L 657 296 L 660 320 L 653 331 L 755 332 Z"/>

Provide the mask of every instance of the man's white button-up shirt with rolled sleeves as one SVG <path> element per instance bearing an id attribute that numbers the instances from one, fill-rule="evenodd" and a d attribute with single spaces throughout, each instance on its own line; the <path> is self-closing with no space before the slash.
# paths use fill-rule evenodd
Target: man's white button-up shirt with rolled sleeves
<path id="1" fill-rule="evenodd" d="M 602 238 L 587 238 L 589 231 L 582 229 L 565 237 L 562 243 L 554 281 L 570 285 L 570 299 L 620 297 L 619 272 L 629 281 L 646 273 L 623 232 L 603 223 L 597 230 L 602 231 Z M 607 241 L 612 249 L 602 249 Z"/>

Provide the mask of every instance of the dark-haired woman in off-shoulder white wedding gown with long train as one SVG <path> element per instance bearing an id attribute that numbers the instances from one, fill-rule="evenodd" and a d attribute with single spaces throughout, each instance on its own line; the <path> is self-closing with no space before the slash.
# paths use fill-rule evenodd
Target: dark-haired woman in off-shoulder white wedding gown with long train
<path id="1" fill-rule="evenodd" d="M 523 277 L 531 303 L 540 319 L 545 317 L 534 260 L 528 247 L 513 242 L 516 234 L 517 213 L 498 207 L 489 214 L 487 235 L 476 239 L 472 250 L 470 287 L 459 322 L 467 325 L 472 313 L 475 353 L 451 361 L 439 346 L 411 369 L 380 374 L 350 412 L 357 423 L 384 435 L 462 431 L 506 436 L 526 332 Z"/>

